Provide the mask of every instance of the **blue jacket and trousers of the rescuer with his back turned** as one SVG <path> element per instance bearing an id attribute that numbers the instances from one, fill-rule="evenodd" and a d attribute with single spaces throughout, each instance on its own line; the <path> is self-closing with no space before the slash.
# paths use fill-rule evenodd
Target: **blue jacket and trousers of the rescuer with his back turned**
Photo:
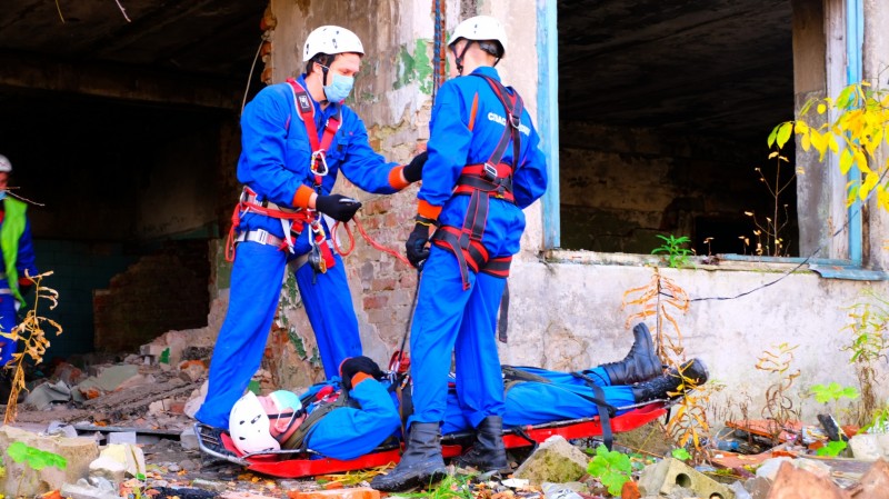
<path id="1" fill-rule="evenodd" d="M 491 67 L 478 68 L 472 74 L 499 81 L 497 70 Z M 471 117 L 473 108 L 477 111 Z M 452 190 L 465 166 L 490 158 L 503 133 L 505 114 L 503 104 L 483 78 L 465 76 L 441 86 L 432 109 L 427 146 L 429 159 L 418 193 L 420 216 L 434 219 L 438 214 L 440 224 L 462 227 L 470 197 L 452 196 Z M 495 198 L 489 201 L 481 242 L 491 258 L 519 251 L 525 230 L 521 210 L 547 188 L 546 159 L 527 111 L 521 116 L 520 134 L 521 158 L 512 178 L 516 203 Z M 501 162 L 512 163 L 512 156 L 510 140 Z M 438 210 L 440 213 L 436 213 Z M 444 380 L 450 370 L 451 351 L 460 380 L 457 385 L 460 407 L 471 425 L 477 426 L 488 416 L 502 416 L 503 382 L 495 329 L 505 283 L 502 278 L 470 271 L 470 288 L 465 291 L 455 255 L 434 244 L 430 248 L 410 336 L 411 376 L 416 387 L 411 422 L 444 419 L 448 392 Z"/>

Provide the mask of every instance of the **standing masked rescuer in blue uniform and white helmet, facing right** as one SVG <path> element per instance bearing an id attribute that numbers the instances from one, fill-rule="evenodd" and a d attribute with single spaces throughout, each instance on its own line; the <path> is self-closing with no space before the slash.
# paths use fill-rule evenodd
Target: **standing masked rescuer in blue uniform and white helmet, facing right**
<path id="1" fill-rule="evenodd" d="M 196 418 L 226 428 L 232 405 L 260 366 L 284 268 L 296 275 L 324 375 L 361 355 L 358 320 L 342 260 L 320 217 L 349 221 L 361 203 L 330 193 L 341 171 L 359 188 L 392 193 L 421 177 L 426 153 L 408 166 L 388 163 L 368 143 L 361 119 L 341 102 L 360 69 L 363 47 L 340 27 L 312 31 L 306 74 L 270 86 L 241 117 L 238 179 L 243 193 L 232 216 L 237 243 L 231 293 L 213 350 L 207 399 Z"/>

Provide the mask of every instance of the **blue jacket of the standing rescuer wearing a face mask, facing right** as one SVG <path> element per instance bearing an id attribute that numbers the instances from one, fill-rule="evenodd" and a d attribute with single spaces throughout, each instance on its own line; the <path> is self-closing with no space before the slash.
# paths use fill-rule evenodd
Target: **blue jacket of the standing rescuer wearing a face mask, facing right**
<path id="1" fill-rule="evenodd" d="M 297 81 L 306 87 L 303 77 Z M 334 103 L 321 110 L 319 102 L 312 99 L 312 103 L 319 141 L 328 118 L 336 114 L 338 108 L 342 110 L 339 131 L 327 151 L 330 172 L 323 177 L 322 194 L 330 193 L 340 171 L 368 192 L 389 194 L 406 187 L 390 181 L 397 177 L 394 172 L 400 166 L 387 162 L 371 149 L 364 123 L 354 111 Z M 278 83 L 262 89 L 241 116 L 238 180 L 263 200 L 283 207 L 298 206 L 297 191 L 300 186 L 314 187 L 314 176 L 309 169 L 311 153 L 309 136 L 297 111 L 290 84 Z M 256 213 L 244 216 L 238 230 L 260 228 L 278 237 L 283 236 L 278 220 Z M 300 239 L 306 240 L 307 234 Z M 308 250 L 308 246 L 304 250 Z"/>

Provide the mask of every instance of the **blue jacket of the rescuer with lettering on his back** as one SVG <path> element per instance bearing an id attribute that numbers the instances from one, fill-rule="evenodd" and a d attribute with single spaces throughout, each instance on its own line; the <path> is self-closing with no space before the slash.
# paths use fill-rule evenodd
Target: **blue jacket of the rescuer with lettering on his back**
<path id="1" fill-rule="evenodd" d="M 478 68 L 472 74 L 500 81 L 497 70 L 490 67 Z M 432 109 L 427 146 L 429 159 L 423 167 L 423 183 L 417 196 L 420 200 L 419 214 L 438 219 L 446 226 L 462 226 L 469 196 L 451 196 L 451 192 L 465 166 L 482 163 L 490 158 L 503 134 L 506 119 L 503 104 L 483 78 L 465 76 L 441 86 Z M 521 158 L 512 178 L 516 204 L 491 198 L 482 237 L 492 257 L 519 251 L 519 239 L 525 230 L 521 209 L 540 198 L 547 189 L 546 157 L 539 148 L 540 137 L 527 110 L 522 112 L 519 131 Z M 511 163 L 512 156 L 510 141 L 501 162 Z"/>

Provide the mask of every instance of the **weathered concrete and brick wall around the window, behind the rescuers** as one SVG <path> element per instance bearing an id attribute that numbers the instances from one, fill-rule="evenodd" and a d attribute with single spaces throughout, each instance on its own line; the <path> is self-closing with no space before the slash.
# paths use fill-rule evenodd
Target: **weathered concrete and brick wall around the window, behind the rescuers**
<path id="1" fill-rule="evenodd" d="M 538 73 L 531 70 L 537 66 L 536 38 L 527 34 L 537 32 L 536 2 L 449 1 L 449 27 L 456 26 L 453 17 L 461 10 L 506 20 L 510 54 L 501 64 L 502 74 L 522 93 L 532 114 L 537 113 Z M 292 53 L 299 46 L 297 40 L 308 33 L 308 27 L 336 21 L 368 40 L 363 69 L 367 74 L 359 80 L 356 107 L 371 131 L 374 148 L 391 159 L 408 159 L 416 141 L 426 138 L 429 97 L 422 87 L 428 76 L 416 73 L 412 77 L 416 79 L 403 87 L 397 88 L 394 82 L 401 78 L 402 61 L 417 61 L 423 43 L 429 56 L 429 42 L 418 44 L 418 40 L 431 38 L 429 4 L 398 0 L 348 4 L 273 0 L 271 11 L 277 21 L 269 58 L 274 66 L 274 81 L 301 66 L 293 62 Z M 408 59 L 398 56 L 404 52 Z M 562 174 L 570 172 L 566 158 L 561 161 Z M 342 189 L 356 192 L 347 182 Z M 399 251 L 410 230 L 413 192 L 408 190 L 389 198 L 356 192 L 366 201 L 359 219 L 372 236 Z M 627 290 L 650 281 L 652 269 L 646 265 L 657 260 L 586 251 L 543 253 L 540 206 L 526 211 L 529 224 L 510 278 L 510 340 L 500 346 L 501 360 L 577 369 L 622 358 L 632 340 L 627 318 L 635 310 L 622 310 L 621 301 Z M 384 362 L 404 331 L 416 282 L 413 271 L 361 241 L 346 265 L 366 352 Z M 828 280 L 802 270 L 769 285 L 791 267 L 725 262 L 705 267 L 700 261 L 697 266 L 685 270 L 661 269 L 661 272 L 691 298 L 701 299 L 691 305 L 688 313 L 678 317 L 678 323 L 687 356 L 703 358 L 713 385 L 727 387 L 717 396 L 711 416 L 728 417 L 729 412 L 739 416 L 742 402 L 738 400 L 745 396 L 750 399 L 750 413 L 759 413 L 765 389 L 773 380 L 755 365 L 765 350 L 781 342 L 799 345 L 793 368 L 800 370 L 800 378 L 795 383 L 793 397 L 800 403 L 798 407 L 805 408 L 805 415 L 811 416 L 820 409 L 813 400 L 803 402 L 801 398 L 812 383 L 855 385 L 847 353 L 840 350 L 849 339 L 843 330 L 847 326 L 843 307 L 860 301 L 859 293 L 866 289 L 886 295 L 889 288 L 885 282 Z M 756 291 L 737 299 L 706 300 L 751 290 Z M 279 367 L 274 369 L 279 385 L 292 388 L 317 379 L 320 371 L 317 362 L 312 362 L 311 329 L 299 309 L 298 296 L 284 295 L 288 297 L 284 313 L 278 321 L 278 337 L 272 338 L 270 346 L 286 348 L 272 356 L 277 360 L 271 359 L 270 363 Z M 650 325 L 653 327 L 653 322 Z"/>

